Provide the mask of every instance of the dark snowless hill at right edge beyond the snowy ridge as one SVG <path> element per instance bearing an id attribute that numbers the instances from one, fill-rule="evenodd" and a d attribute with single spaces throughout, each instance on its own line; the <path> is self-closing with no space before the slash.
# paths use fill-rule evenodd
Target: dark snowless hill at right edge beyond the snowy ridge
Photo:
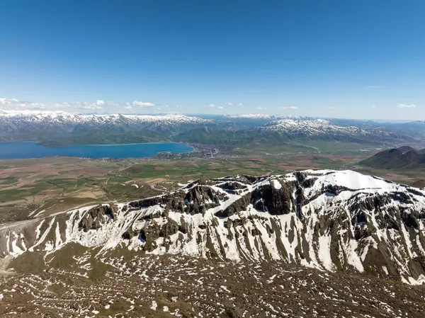
<path id="1" fill-rule="evenodd" d="M 425 166 L 425 149 L 403 146 L 387 149 L 360 162 L 376 169 L 419 169 Z"/>

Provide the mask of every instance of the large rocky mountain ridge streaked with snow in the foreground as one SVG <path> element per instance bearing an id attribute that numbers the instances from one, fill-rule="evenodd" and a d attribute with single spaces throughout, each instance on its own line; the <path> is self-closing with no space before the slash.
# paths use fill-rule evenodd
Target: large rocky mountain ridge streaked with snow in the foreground
<path id="1" fill-rule="evenodd" d="M 200 180 L 174 193 L 3 227 L 2 254 L 70 242 L 145 254 L 284 261 L 425 282 L 425 191 L 353 171 Z"/>

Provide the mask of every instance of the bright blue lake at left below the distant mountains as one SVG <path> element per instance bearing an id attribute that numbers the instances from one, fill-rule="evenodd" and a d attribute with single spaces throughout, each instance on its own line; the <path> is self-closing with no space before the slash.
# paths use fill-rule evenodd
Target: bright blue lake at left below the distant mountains
<path id="1" fill-rule="evenodd" d="M 84 158 L 140 158 L 159 152 L 181 154 L 191 152 L 186 144 L 157 142 L 152 144 L 83 144 L 77 146 L 45 147 L 34 142 L 0 142 L 0 159 L 29 159 L 53 156 Z"/>

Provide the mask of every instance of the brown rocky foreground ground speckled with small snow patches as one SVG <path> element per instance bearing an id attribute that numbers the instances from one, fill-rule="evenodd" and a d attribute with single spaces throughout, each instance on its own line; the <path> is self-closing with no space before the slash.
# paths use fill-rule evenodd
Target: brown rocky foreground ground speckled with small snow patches
<path id="1" fill-rule="evenodd" d="M 26 254 L 1 317 L 424 317 L 425 290 L 367 274 L 180 256 Z M 118 255 L 118 254 L 117 254 Z M 24 266 L 24 267 L 22 267 Z"/>

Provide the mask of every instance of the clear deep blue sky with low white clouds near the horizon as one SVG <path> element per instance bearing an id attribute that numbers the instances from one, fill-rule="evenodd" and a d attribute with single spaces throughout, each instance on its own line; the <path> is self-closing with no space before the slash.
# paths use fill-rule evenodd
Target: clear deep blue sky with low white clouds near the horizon
<path id="1" fill-rule="evenodd" d="M 0 2 L 0 109 L 425 120 L 425 1 Z"/>

